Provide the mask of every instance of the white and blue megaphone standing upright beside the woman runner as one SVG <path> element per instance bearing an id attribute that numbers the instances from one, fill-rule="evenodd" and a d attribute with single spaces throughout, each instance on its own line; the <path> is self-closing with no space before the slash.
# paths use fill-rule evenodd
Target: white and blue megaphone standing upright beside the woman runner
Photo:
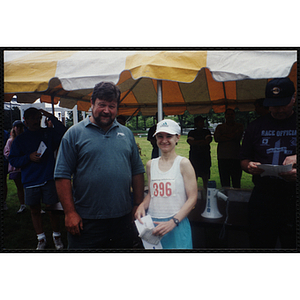
<path id="1" fill-rule="evenodd" d="M 219 219 L 223 217 L 218 209 L 217 198 L 221 198 L 226 201 L 228 197 L 219 192 L 216 187 L 217 184 L 215 181 L 209 181 L 207 184 L 206 207 L 204 212 L 201 214 L 204 218 Z"/>

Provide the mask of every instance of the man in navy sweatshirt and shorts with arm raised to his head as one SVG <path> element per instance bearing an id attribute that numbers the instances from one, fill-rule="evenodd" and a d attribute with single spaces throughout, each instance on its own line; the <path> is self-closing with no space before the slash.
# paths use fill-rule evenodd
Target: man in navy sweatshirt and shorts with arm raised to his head
<path id="1" fill-rule="evenodd" d="M 54 128 L 41 127 L 42 115 L 51 119 Z M 42 225 L 41 200 L 46 207 L 59 202 L 53 178 L 54 152 L 58 148 L 66 128 L 49 112 L 34 107 L 25 110 L 24 120 L 27 129 L 14 139 L 8 159 L 13 167 L 21 168 L 25 204 L 30 207 L 31 219 L 38 239 L 36 249 L 44 250 L 47 239 Z M 45 146 L 44 153 L 39 150 L 41 144 Z M 59 215 L 49 211 L 49 216 L 55 248 L 63 249 Z"/>

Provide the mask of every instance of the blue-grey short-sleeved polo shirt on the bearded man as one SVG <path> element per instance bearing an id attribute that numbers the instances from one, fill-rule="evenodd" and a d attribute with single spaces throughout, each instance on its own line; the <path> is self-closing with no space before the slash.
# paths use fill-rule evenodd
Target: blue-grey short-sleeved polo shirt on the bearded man
<path id="1" fill-rule="evenodd" d="M 73 178 L 75 209 L 82 218 L 106 219 L 132 210 L 132 176 L 144 172 L 130 129 L 115 120 L 105 132 L 88 117 L 64 135 L 54 177 Z"/>

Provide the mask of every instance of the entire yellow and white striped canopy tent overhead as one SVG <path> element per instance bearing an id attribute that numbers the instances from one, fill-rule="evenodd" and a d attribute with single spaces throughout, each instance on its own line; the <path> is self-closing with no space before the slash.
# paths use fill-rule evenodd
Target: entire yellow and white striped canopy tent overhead
<path id="1" fill-rule="evenodd" d="M 251 111 L 267 81 L 286 76 L 296 87 L 297 51 L 4 51 L 5 101 L 88 111 L 95 84 L 112 81 L 123 115 Z"/>

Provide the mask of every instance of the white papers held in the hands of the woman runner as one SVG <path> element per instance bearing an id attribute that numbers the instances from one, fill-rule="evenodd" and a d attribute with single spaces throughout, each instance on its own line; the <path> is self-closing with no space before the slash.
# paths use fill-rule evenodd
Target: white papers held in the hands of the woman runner
<path id="1" fill-rule="evenodd" d="M 142 218 L 143 224 L 139 220 L 135 220 L 135 226 L 139 232 L 145 249 L 162 249 L 160 237 L 152 234 L 154 224 L 150 215 Z"/>

